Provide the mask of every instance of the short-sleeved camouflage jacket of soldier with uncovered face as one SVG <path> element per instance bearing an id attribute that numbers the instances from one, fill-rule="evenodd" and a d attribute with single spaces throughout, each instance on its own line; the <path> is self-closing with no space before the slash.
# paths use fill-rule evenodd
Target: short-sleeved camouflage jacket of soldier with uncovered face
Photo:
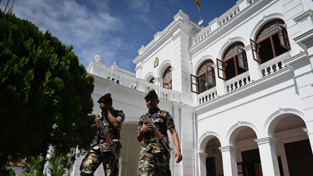
<path id="1" fill-rule="evenodd" d="M 152 122 L 154 122 L 154 125 L 156 128 L 161 132 L 162 136 L 164 137 L 164 140 L 166 141 L 167 145 L 169 144 L 167 130 L 175 127 L 174 120 L 172 116 L 169 114 L 168 111 L 160 110 L 158 109 L 154 114 L 150 114 L 149 111 L 146 114 Z M 140 118 L 142 120 L 142 118 Z M 140 129 L 142 127 L 142 124 L 138 125 L 137 132 L 140 132 Z M 144 133 L 143 134 L 143 140 L 141 143 L 141 149 L 145 148 L 146 150 L 149 150 L 153 148 L 154 152 L 162 152 L 167 151 L 167 149 L 164 148 L 162 143 L 159 143 L 159 139 L 157 139 L 156 135 L 154 133 Z"/>

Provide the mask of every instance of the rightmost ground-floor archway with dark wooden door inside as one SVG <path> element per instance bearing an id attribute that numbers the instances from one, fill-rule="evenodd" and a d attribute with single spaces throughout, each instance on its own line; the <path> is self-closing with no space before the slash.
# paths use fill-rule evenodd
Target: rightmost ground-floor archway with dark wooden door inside
<path id="1" fill-rule="evenodd" d="M 313 175 L 313 156 L 303 119 L 286 113 L 276 117 L 279 122 L 273 130 L 280 175 Z"/>

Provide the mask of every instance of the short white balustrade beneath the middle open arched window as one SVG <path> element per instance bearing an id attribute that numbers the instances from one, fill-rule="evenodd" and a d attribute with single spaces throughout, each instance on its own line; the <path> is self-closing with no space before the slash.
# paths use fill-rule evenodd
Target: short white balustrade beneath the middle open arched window
<path id="1" fill-rule="evenodd" d="M 236 90 L 242 86 L 245 86 L 251 82 L 249 71 L 244 72 L 228 81 L 224 82 L 225 93 Z"/>

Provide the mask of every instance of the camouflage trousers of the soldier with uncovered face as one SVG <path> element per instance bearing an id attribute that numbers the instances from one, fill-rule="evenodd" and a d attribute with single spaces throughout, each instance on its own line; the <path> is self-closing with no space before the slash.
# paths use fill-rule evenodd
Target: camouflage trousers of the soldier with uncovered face
<path id="1" fill-rule="evenodd" d="M 157 152 L 145 148 L 140 150 L 138 176 L 171 176 L 169 152 Z"/>

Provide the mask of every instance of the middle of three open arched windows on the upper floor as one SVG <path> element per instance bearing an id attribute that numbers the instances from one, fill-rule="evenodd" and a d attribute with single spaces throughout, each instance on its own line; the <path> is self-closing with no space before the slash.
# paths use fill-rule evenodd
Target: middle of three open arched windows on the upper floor
<path id="1" fill-rule="evenodd" d="M 243 47 L 242 42 L 233 43 L 226 49 L 223 61 L 216 59 L 219 78 L 226 81 L 249 70 L 246 52 L 242 49 Z"/>

